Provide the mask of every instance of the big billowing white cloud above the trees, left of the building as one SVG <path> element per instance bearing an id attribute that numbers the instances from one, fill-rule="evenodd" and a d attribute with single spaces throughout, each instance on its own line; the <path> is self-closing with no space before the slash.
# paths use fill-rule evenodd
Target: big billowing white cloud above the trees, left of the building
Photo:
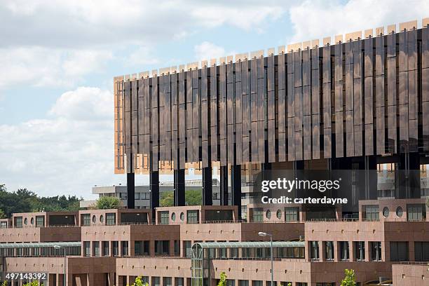
<path id="1" fill-rule="evenodd" d="M 0 125 L 1 183 L 86 197 L 93 184 L 117 184 L 112 110 L 109 91 L 81 87 L 62 94 L 48 119 Z"/>

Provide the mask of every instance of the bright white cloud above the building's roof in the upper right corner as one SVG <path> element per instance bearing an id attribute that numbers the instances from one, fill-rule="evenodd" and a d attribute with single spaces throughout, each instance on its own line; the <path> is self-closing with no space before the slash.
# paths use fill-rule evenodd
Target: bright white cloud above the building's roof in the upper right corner
<path id="1" fill-rule="evenodd" d="M 294 35 L 290 43 L 322 39 L 428 16 L 429 2 L 425 0 L 339 0 L 304 1 L 290 8 Z"/>

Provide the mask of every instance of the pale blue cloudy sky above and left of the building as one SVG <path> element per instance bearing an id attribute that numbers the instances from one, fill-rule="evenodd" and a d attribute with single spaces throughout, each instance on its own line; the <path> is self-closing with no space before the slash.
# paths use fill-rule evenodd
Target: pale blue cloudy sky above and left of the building
<path id="1" fill-rule="evenodd" d="M 425 0 L 2 0 L 0 184 L 83 198 L 124 184 L 114 76 L 425 17 Z"/>

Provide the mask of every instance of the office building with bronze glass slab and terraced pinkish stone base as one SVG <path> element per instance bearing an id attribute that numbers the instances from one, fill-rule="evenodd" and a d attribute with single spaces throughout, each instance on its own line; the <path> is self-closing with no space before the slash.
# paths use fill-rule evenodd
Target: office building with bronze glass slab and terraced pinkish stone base
<path id="1" fill-rule="evenodd" d="M 339 286 L 348 268 L 360 286 L 429 285 L 429 19 L 422 23 L 116 77 L 115 171 L 127 176 L 128 208 L 0 219 L 2 275 L 204 286 L 225 273 L 230 286 Z M 202 176 L 200 206 L 184 205 L 191 168 Z M 267 170 L 376 175 L 356 184 L 351 213 L 262 204 L 246 191 L 255 199 L 243 217 L 243 189 Z M 173 207 L 159 206 L 162 173 L 174 175 Z M 135 209 L 135 174 L 149 175 L 149 209 Z"/>

